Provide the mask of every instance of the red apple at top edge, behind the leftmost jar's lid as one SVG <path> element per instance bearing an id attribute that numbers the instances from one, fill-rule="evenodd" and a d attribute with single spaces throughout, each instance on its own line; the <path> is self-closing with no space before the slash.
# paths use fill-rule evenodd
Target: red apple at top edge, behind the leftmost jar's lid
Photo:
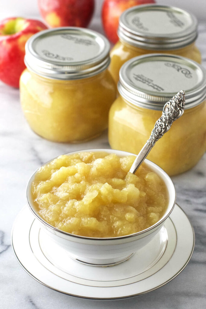
<path id="1" fill-rule="evenodd" d="M 94 0 L 38 0 L 39 10 L 52 28 L 87 27 L 92 18 Z"/>

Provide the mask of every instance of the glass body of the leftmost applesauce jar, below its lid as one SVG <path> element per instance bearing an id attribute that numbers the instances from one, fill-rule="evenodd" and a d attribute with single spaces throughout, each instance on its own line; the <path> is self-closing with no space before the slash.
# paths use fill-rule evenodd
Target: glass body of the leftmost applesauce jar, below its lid
<path id="1" fill-rule="evenodd" d="M 20 78 L 20 101 L 30 127 L 55 142 L 85 141 L 102 133 L 115 98 L 108 70 L 89 78 L 56 80 L 26 69 Z"/>

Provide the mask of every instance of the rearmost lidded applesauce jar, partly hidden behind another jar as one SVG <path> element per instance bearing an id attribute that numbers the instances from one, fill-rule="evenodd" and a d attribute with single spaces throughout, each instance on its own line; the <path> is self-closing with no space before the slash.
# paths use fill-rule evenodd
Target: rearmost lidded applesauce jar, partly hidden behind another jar
<path id="1" fill-rule="evenodd" d="M 120 16 L 118 36 L 109 67 L 116 84 L 124 62 L 148 53 L 172 53 L 201 63 L 195 46 L 197 19 L 176 7 L 134 6 Z"/>

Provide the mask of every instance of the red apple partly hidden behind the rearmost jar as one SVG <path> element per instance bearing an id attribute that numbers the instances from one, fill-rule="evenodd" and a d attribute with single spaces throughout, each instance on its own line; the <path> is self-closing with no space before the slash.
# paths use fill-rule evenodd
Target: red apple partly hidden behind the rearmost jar
<path id="1" fill-rule="evenodd" d="M 115 44 L 118 41 L 117 28 L 120 15 L 132 6 L 147 3 L 155 3 L 155 0 L 104 0 L 102 23 L 107 38 Z"/>

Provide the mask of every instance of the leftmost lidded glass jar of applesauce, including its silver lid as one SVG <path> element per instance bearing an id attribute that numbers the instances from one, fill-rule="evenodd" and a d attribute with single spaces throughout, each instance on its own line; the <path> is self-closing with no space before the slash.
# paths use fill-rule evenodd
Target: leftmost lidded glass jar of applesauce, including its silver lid
<path id="1" fill-rule="evenodd" d="M 99 33 L 72 27 L 27 41 L 20 100 L 34 132 L 55 142 L 79 142 L 107 128 L 116 98 L 109 47 Z"/>

